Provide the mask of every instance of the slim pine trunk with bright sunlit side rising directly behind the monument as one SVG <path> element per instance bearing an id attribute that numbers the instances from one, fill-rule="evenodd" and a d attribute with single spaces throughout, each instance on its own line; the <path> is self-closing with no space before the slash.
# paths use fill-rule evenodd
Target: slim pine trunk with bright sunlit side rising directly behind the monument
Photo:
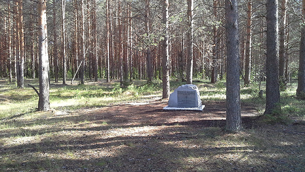
<path id="1" fill-rule="evenodd" d="M 193 82 L 193 10 L 194 10 L 194 0 L 188 1 L 188 65 L 187 65 L 187 84 L 192 84 Z"/>

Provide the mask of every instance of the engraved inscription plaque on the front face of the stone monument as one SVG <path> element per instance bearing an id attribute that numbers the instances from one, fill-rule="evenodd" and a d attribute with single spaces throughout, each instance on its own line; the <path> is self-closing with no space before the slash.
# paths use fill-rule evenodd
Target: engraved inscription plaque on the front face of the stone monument
<path id="1" fill-rule="evenodd" d="M 196 91 L 177 91 L 178 107 L 197 107 Z"/>

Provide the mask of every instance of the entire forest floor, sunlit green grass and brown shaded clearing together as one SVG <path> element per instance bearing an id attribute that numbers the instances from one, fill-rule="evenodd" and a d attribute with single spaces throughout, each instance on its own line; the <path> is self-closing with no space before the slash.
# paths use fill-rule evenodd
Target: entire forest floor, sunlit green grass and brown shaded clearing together
<path id="1" fill-rule="evenodd" d="M 38 88 L 38 80 L 25 80 Z M 50 111 L 32 88 L 0 80 L 0 171 L 303 171 L 305 100 L 296 82 L 263 116 L 259 85 L 241 87 L 244 130 L 224 131 L 226 83 L 195 80 L 203 111 L 164 111 L 162 82 L 50 84 Z M 171 92 L 179 85 L 171 82 Z M 262 89 L 264 90 L 264 83 Z M 263 118 L 262 118 L 263 117 Z"/>

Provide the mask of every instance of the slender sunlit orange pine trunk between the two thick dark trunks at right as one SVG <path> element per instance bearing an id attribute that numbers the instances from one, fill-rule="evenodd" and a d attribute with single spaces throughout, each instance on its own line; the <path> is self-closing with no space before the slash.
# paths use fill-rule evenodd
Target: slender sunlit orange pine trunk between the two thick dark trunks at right
<path id="1" fill-rule="evenodd" d="M 245 85 L 250 83 L 251 76 L 251 44 L 252 44 L 252 0 L 248 1 L 247 11 L 247 41 L 245 56 Z"/>

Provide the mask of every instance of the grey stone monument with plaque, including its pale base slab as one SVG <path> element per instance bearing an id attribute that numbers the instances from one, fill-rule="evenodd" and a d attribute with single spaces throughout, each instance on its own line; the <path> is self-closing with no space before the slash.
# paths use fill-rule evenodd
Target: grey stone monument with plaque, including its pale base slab
<path id="1" fill-rule="evenodd" d="M 203 110 L 200 93 L 196 85 L 186 84 L 178 87 L 169 96 L 168 106 L 164 110 Z"/>

